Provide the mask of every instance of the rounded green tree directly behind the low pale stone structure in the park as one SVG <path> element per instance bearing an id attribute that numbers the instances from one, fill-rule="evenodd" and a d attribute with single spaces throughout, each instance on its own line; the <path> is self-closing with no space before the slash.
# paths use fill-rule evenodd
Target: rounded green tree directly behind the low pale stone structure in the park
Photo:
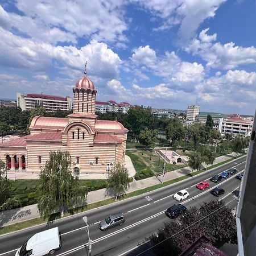
<path id="1" fill-rule="evenodd" d="M 175 145 L 177 141 L 180 141 L 185 136 L 185 129 L 183 123 L 177 118 L 170 119 L 166 127 L 166 137 L 167 140 L 172 142 L 172 146 Z"/>

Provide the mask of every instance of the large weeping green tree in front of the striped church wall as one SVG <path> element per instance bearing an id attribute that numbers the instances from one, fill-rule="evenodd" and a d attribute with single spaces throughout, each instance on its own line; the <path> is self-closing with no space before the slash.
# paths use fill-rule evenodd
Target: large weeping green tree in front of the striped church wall
<path id="1" fill-rule="evenodd" d="M 49 160 L 39 175 L 38 209 L 46 218 L 61 209 L 71 208 L 86 197 L 87 188 L 81 186 L 78 177 L 72 176 L 71 156 L 68 151 L 49 153 Z"/>

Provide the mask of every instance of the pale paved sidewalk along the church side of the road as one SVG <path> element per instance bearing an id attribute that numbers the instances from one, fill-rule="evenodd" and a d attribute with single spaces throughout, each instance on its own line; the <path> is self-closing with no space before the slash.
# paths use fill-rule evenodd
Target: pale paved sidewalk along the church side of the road
<path id="1" fill-rule="evenodd" d="M 213 164 L 221 163 L 225 160 L 233 158 L 234 156 L 236 156 L 235 153 L 219 156 L 218 158 L 216 158 Z M 135 172 L 133 163 L 131 162 L 131 159 L 129 158 L 129 156 L 126 156 L 125 160 L 126 160 L 126 168 L 129 170 L 129 176 L 130 175 L 134 176 L 136 172 Z M 189 167 L 167 172 L 166 175 L 164 176 L 164 181 L 175 179 L 176 177 L 189 174 L 190 172 L 191 172 L 191 169 Z M 139 189 L 147 188 L 159 183 L 160 183 L 159 179 L 156 178 L 155 176 L 149 177 L 143 180 L 134 180 L 133 182 L 130 183 L 130 188 L 128 189 L 127 193 L 130 193 Z M 88 193 L 86 203 L 92 204 L 98 201 L 109 199 L 111 197 L 112 196 L 106 196 L 105 188 L 98 189 L 96 191 L 91 191 Z M 36 204 L 28 205 L 27 207 L 6 210 L 5 212 L 0 212 L 0 227 L 15 224 L 20 221 L 30 220 L 31 218 L 37 218 L 39 216 L 40 214 L 38 212 L 38 208 Z"/>

